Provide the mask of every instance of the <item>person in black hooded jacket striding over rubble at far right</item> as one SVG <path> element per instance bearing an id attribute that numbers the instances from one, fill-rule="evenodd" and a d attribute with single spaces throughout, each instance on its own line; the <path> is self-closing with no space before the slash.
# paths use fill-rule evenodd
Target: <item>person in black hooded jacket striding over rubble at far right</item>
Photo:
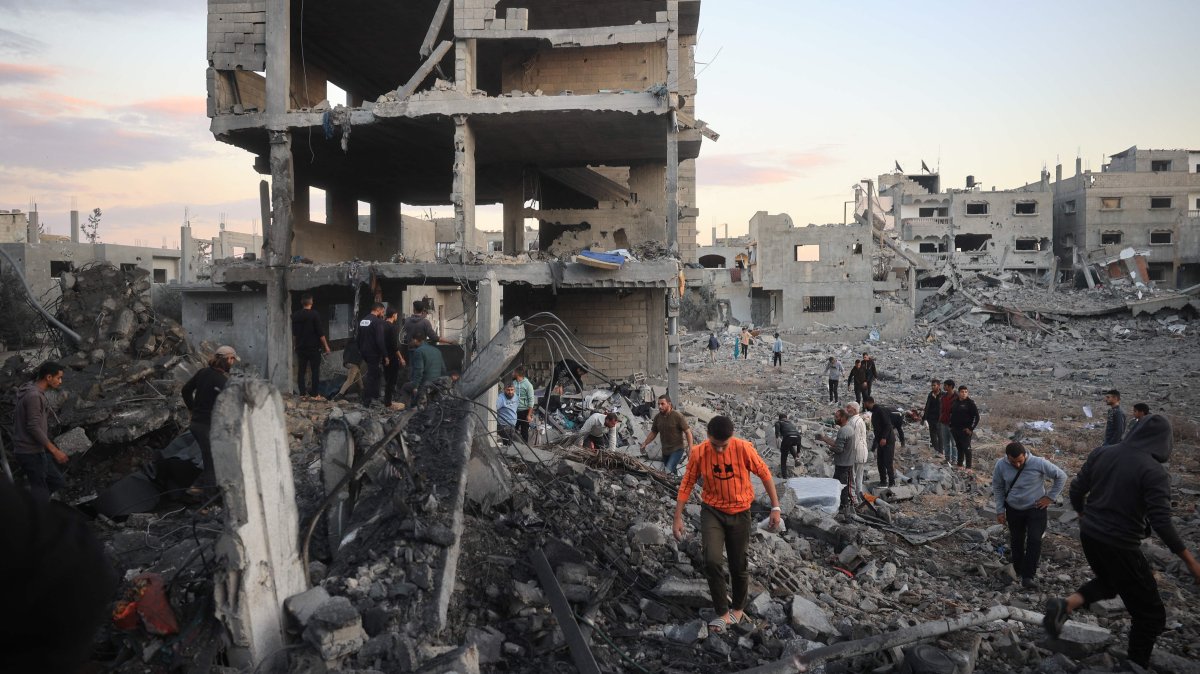
<path id="1" fill-rule="evenodd" d="M 1171 483 L 1163 464 L 1171 456 L 1171 425 L 1152 414 L 1129 438 L 1092 450 L 1070 482 L 1070 506 L 1079 513 L 1079 540 L 1094 578 L 1067 598 L 1046 601 L 1043 625 L 1052 637 L 1067 616 L 1120 596 L 1129 610 L 1129 660 L 1150 667 L 1154 642 L 1166 626 L 1166 609 L 1154 572 L 1141 552 L 1153 529 L 1200 582 L 1200 564 L 1171 524 Z M 1148 526 L 1147 526 L 1148 524 Z"/>

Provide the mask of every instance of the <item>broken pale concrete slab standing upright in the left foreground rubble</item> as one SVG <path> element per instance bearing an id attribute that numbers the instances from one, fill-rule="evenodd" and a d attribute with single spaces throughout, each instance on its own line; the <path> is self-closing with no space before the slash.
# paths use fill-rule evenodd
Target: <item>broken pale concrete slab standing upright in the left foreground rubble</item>
<path id="1" fill-rule="evenodd" d="M 308 589 L 286 419 L 280 392 L 257 379 L 234 379 L 212 410 L 212 463 L 224 495 L 212 595 L 230 663 L 242 669 L 283 670 L 283 600 Z"/>

